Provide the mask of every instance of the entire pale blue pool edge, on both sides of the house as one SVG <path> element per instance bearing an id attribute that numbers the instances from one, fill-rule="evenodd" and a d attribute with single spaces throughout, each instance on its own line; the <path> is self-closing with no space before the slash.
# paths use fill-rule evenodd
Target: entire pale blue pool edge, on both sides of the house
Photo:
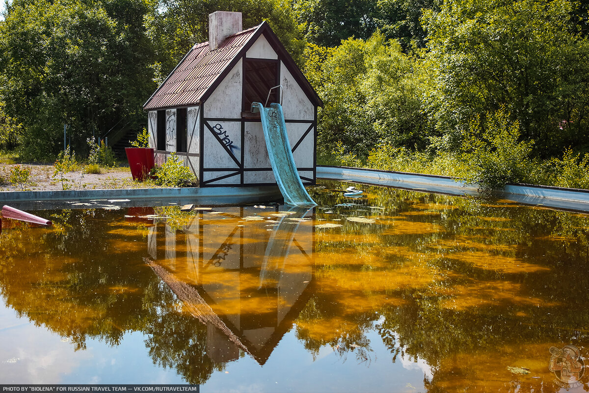
<path id="1" fill-rule="evenodd" d="M 317 179 L 349 180 L 376 186 L 450 194 L 479 195 L 479 187 L 448 176 L 395 172 L 353 167 L 317 166 Z M 589 212 L 589 190 L 561 187 L 508 184 L 498 196 L 512 202 L 552 209 Z M 277 186 L 190 187 L 151 189 L 101 189 L 57 191 L 0 191 L 0 206 L 43 210 L 71 206 L 92 200 L 125 200 L 125 206 L 150 204 L 246 204 L 273 202 L 282 198 Z"/>

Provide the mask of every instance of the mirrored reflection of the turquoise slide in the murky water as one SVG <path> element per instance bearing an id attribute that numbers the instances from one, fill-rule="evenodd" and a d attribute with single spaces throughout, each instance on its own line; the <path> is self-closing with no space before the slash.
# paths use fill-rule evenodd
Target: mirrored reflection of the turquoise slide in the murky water
<path id="1" fill-rule="evenodd" d="M 299 220 L 304 219 L 311 209 L 312 207 L 292 207 L 288 211 L 293 212 L 293 214 L 288 214 L 280 219 L 278 227 L 273 230 L 266 246 L 264 262 L 262 263 L 262 269 L 260 269 L 260 285 L 258 288 L 262 288 L 268 280 L 273 282 L 273 285 L 279 282 L 283 273 L 284 262 L 286 262 L 286 257 L 289 255 L 290 245 L 292 245 L 294 235 L 299 229 Z"/>

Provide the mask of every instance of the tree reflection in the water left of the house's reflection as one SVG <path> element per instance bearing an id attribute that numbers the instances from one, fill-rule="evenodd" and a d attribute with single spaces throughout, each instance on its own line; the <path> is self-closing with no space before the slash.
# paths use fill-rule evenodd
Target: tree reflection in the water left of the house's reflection
<path id="1" fill-rule="evenodd" d="M 141 260 L 145 224 L 114 214 L 65 210 L 52 216 L 53 228 L 3 230 L 0 293 L 19 316 L 70 338 L 76 349 L 87 338 L 115 346 L 125 332 L 141 331 L 155 364 L 176 368 L 188 382 L 206 381 L 215 367 L 204 349 L 206 326 L 178 310 Z"/>

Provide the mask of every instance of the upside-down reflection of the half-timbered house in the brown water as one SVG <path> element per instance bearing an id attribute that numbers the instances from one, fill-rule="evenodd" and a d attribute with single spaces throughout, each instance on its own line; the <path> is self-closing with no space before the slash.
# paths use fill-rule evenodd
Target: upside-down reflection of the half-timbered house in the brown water
<path id="1" fill-rule="evenodd" d="M 216 208 L 223 213 L 203 212 L 181 230 L 156 223 L 148 236 L 152 268 L 206 323 L 215 362 L 243 349 L 264 364 L 310 296 L 313 227 L 299 220 L 306 212 L 277 224 L 243 220 L 250 209 Z"/>

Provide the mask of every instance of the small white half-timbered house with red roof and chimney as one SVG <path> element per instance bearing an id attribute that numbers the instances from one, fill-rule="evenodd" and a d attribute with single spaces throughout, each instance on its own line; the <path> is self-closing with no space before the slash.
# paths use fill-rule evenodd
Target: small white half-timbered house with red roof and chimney
<path id="1" fill-rule="evenodd" d="M 243 30 L 239 12 L 209 15 L 209 42 L 194 45 L 145 103 L 155 162 L 176 154 L 201 187 L 276 184 L 253 102 L 282 103 L 299 176 L 315 184 L 322 101 L 270 26 Z"/>

